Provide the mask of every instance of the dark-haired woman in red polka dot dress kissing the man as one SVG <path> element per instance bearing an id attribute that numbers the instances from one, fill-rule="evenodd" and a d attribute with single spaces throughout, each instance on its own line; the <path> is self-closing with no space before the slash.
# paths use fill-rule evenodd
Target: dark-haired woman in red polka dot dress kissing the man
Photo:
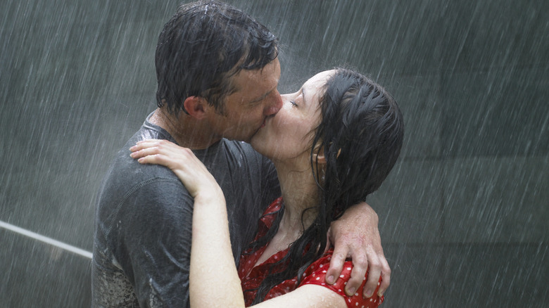
<path id="1" fill-rule="evenodd" d="M 324 284 L 327 230 L 395 164 L 403 140 L 398 105 L 381 86 L 343 69 L 321 72 L 282 98 L 284 107 L 251 140 L 274 162 L 282 197 L 265 210 L 238 271 L 225 198 L 206 167 L 165 141 L 131 148 L 141 163 L 170 167 L 194 197 L 191 307 L 377 307 L 377 292 L 364 299 L 362 290 L 343 291 L 351 262 L 334 285 Z"/>

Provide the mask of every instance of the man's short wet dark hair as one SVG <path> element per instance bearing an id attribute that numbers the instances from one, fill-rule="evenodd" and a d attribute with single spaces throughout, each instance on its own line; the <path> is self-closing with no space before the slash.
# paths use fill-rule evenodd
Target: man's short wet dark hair
<path id="1" fill-rule="evenodd" d="M 158 107 L 177 115 L 189 96 L 206 98 L 222 113 L 236 89 L 229 77 L 277 58 L 277 37 L 237 8 L 217 1 L 182 4 L 156 46 Z"/>

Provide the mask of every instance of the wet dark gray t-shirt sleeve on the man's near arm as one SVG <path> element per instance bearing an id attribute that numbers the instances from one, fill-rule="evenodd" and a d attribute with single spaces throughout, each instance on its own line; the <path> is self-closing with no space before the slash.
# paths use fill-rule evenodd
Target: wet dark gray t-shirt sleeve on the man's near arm
<path id="1" fill-rule="evenodd" d="M 113 224 L 117 261 L 141 307 L 187 307 L 194 200 L 178 179 L 135 189 Z"/>

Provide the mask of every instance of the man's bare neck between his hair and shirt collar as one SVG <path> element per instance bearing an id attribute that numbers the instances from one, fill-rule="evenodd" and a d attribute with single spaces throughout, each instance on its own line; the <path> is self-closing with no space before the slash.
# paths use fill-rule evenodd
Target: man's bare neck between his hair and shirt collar
<path id="1" fill-rule="evenodd" d="M 149 122 L 168 131 L 179 146 L 202 150 L 221 140 L 204 121 L 199 121 L 184 112 L 172 115 L 165 108 L 157 108 Z"/>

